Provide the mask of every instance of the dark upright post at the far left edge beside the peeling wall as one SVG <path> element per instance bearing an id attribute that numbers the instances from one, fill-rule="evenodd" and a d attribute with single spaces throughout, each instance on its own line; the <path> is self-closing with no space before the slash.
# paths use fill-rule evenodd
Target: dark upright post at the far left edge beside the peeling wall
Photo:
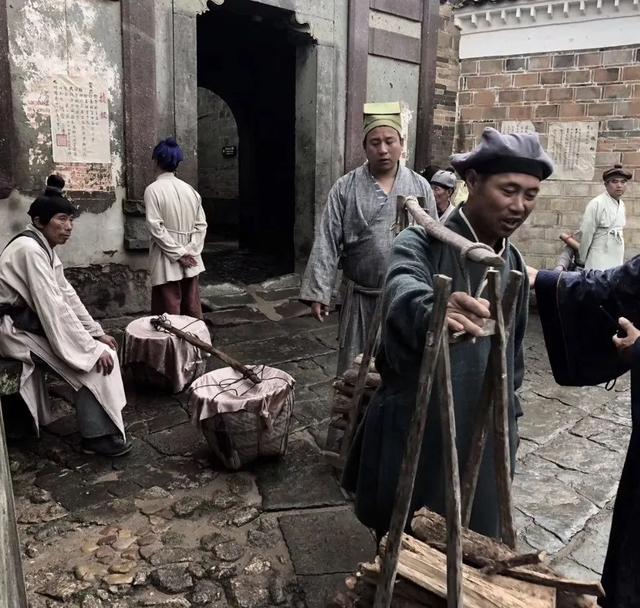
<path id="1" fill-rule="evenodd" d="M 13 119 L 7 2 L 0 0 L 0 199 L 15 186 L 16 135 Z"/>

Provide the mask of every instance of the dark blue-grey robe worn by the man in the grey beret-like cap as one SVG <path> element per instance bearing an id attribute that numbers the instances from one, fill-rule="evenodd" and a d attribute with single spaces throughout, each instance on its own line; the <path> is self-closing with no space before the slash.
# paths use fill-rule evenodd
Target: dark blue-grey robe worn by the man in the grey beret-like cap
<path id="1" fill-rule="evenodd" d="M 470 240 L 476 240 L 459 209 L 452 213 L 447 226 Z M 523 272 L 525 277 L 516 304 L 514 331 L 507 350 L 509 438 L 513 471 L 518 442 L 516 418 L 521 414 L 515 391 L 522 383 L 524 372 L 522 340 L 527 324 L 529 285 L 524 263 L 515 247 L 507 243 L 502 255 L 505 259 L 503 285 L 506 273 L 511 269 Z M 484 268 L 470 263 L 469 272 L 471 289 L 475 293 L 483 278 Z M 372 398 L 358 428 L 343 477 L 344 487 L 355 493 L 358 518 L 379 533 L 386 532 L 391 518 L 405 440 L 415 406 L 418 369 L 433 305 L 432 277 L 438 273 L 451 277 L 452 291 L 466 290 L 460 256 L 456 251 L 430 239 L 421 228 L 408 228 L 402 232 L 391 251 L 383 296 L 382 344 L 376 357 L 376 366 L 382 375 L 382 386 Z M 478 339 L 475 344 L 465 341 L 451 346 L 451 373 L 461 467 L 467 459 L 489 349 L 490 338 Z M 432 398 L 411 513 L 422 506 L 428 506 L 444 514 L 439 407 L 437 397 Z M 491 436 L 480 468 L 470 527 L 494 537 L 499 531 Z"/>

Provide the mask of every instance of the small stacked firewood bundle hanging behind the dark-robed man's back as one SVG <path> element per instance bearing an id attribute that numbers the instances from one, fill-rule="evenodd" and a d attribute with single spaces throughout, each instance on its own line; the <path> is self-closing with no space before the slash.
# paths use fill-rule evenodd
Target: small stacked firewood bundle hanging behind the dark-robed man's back
<path id="1" fill-rule="evenodd" d="M 360 371 L 362 355 L 353 360 L 353 365 L 333 383 L 335 390 L 333 407 L 331 408 L 331 421 L 327 432 L 326 456 L 336 466 L 339 463 L 340 451 L 344 433 L 349 426 L 349 420 L 353 414 L 353 395 L 356 390 L 356 381 Z M 361 413 L 364 413 L 369 399 L 380 386 L 380 374 L 376 372 L 375 361 L 371 359 L 367 373 L 365 389 L 362 395 Z M 357 423 L 358 421 L 356 421 Z"/>

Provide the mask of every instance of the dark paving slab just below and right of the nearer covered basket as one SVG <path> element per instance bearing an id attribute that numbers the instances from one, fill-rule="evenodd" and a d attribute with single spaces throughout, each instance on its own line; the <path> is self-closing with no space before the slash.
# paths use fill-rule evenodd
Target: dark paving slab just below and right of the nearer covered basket
<path id="1" fill-rule="evenodd" d="M 267 511 L 345 503 L 331 468 L 305 438 L 291 441 L 283 459 L 257 465 L 255 471 L 262 505 Z"/>

